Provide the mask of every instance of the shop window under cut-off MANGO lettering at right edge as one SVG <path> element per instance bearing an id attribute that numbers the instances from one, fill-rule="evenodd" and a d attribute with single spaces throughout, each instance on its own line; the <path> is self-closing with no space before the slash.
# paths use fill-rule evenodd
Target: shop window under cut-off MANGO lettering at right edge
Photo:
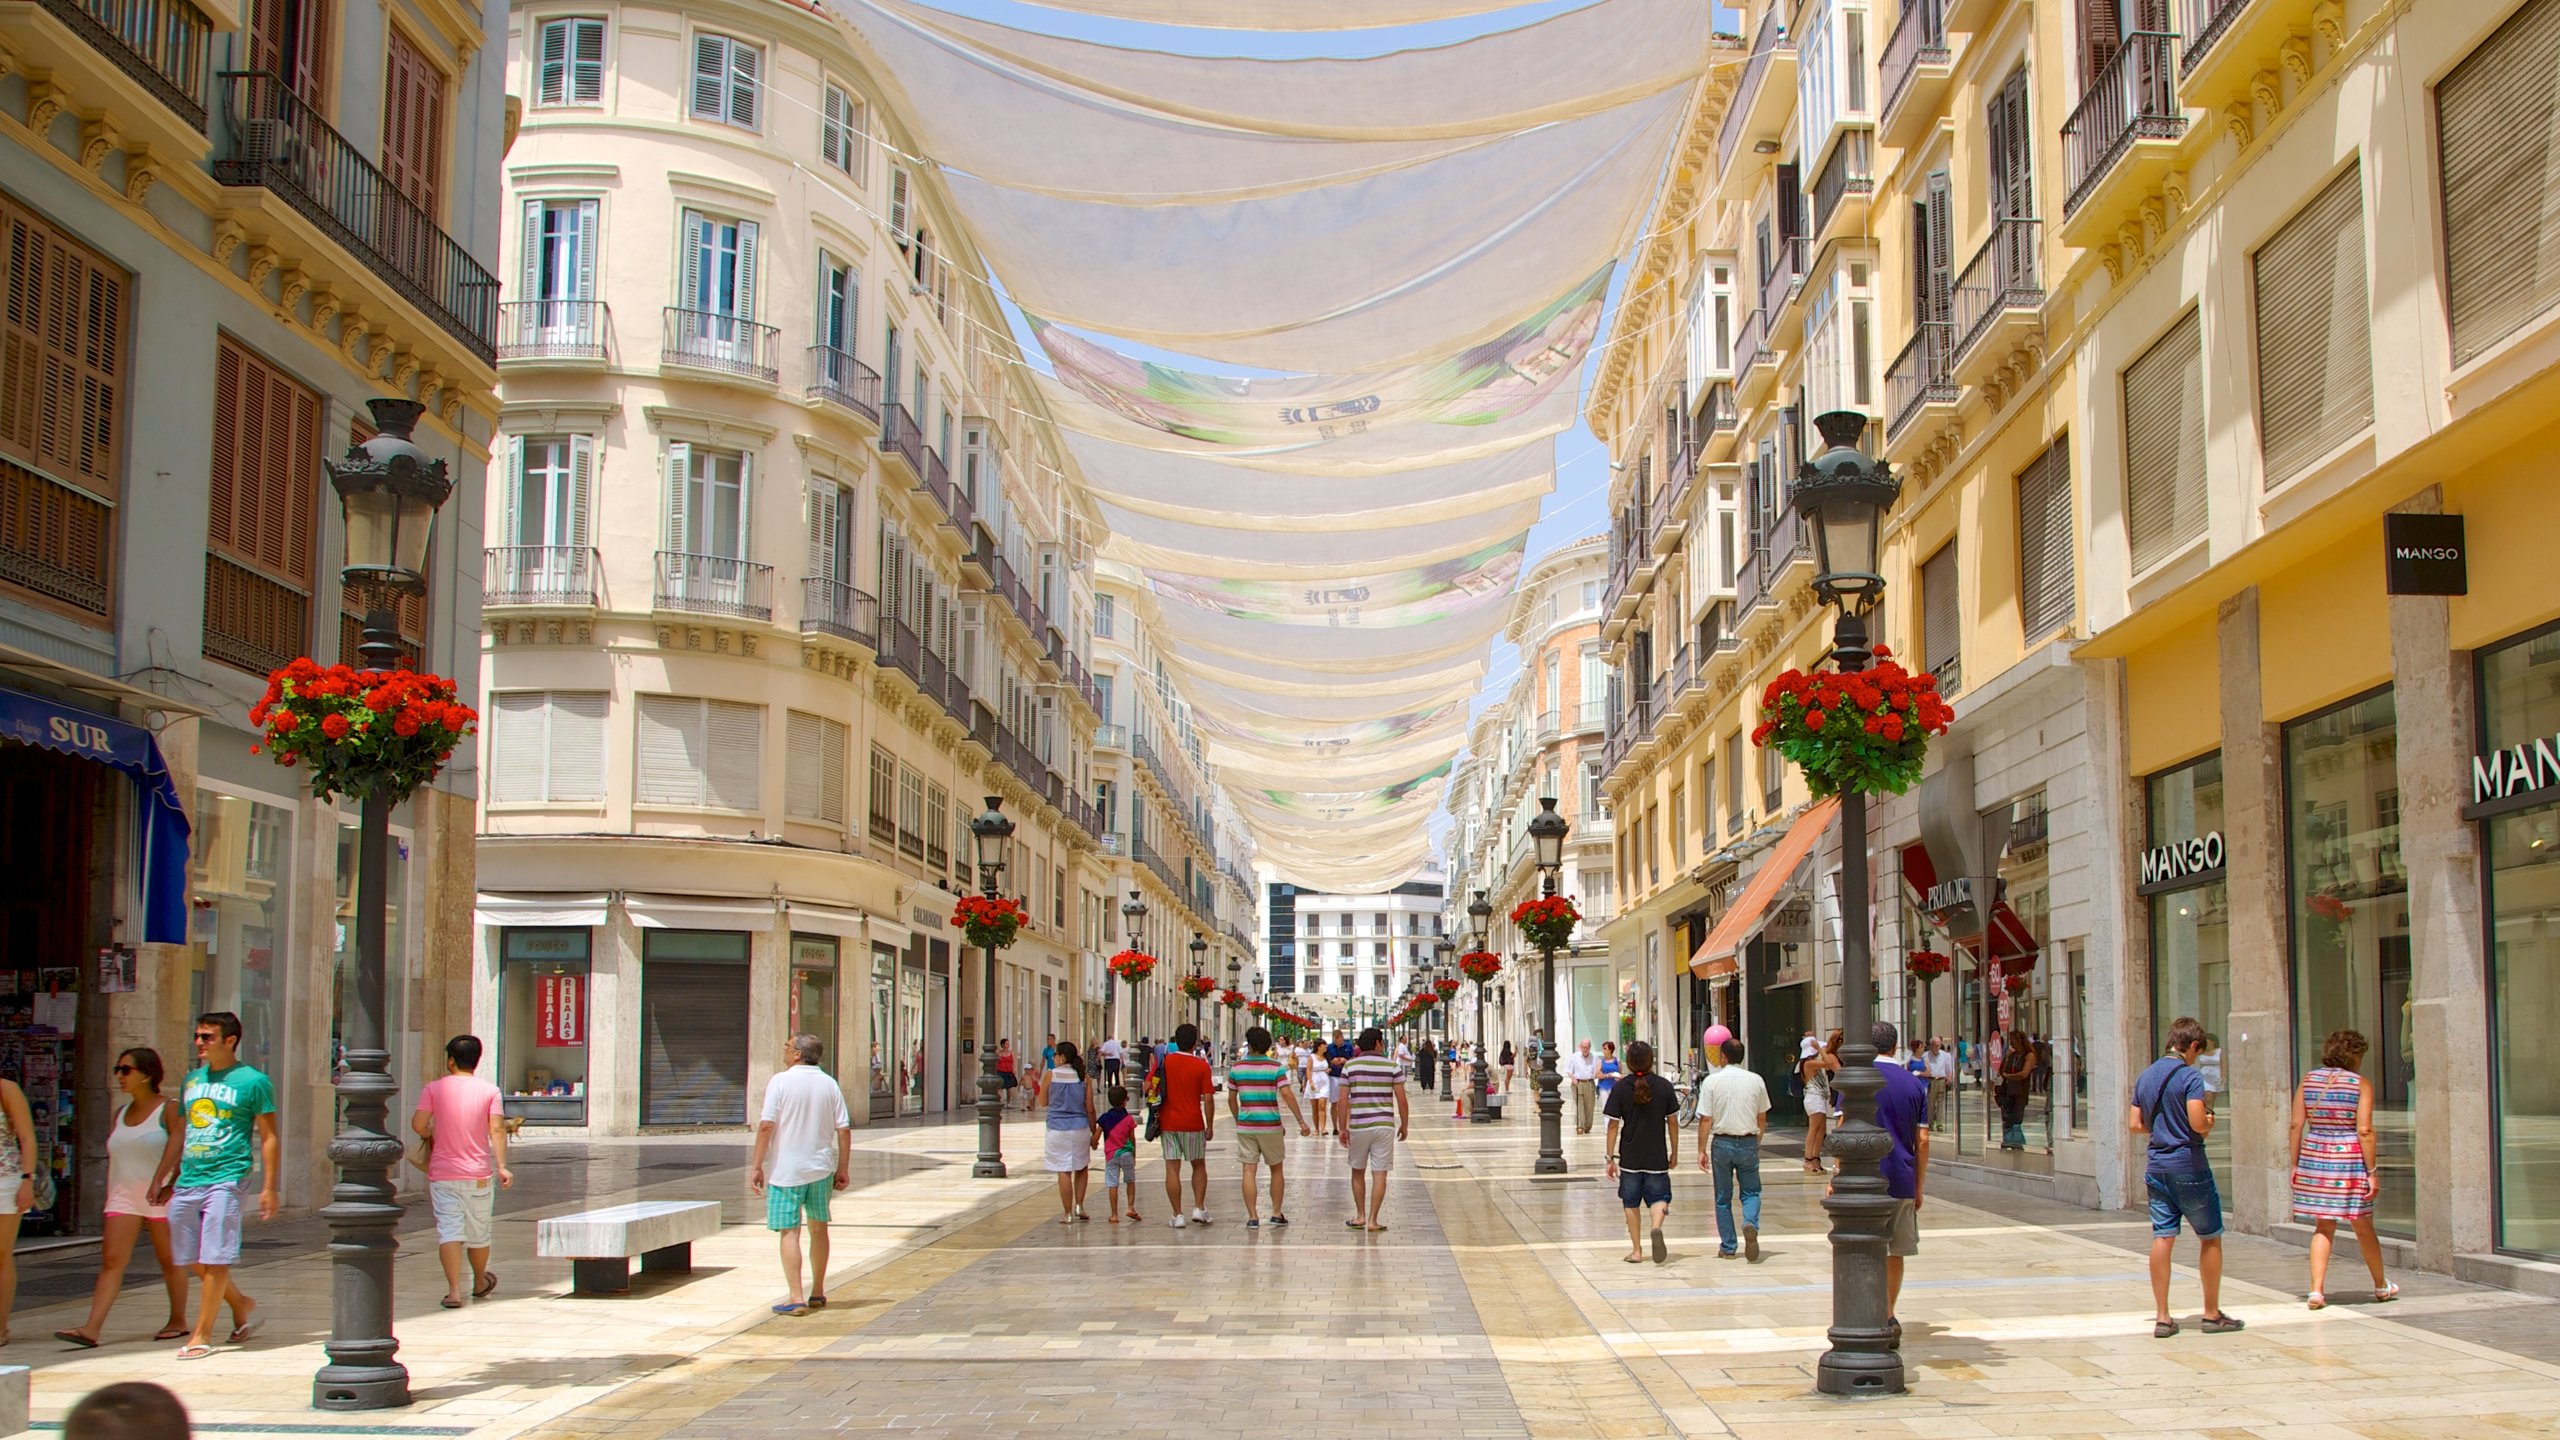
<path id="1" fill-rule="evenodd" d="M 2499 1248 L 2560 1256 L 2560 625 L 2481 651 Z M 2522 756 L 2519 756 L 2522 751 Z M 2504 756 L 2504 758 L 2496 758 Z M 2511 776 L 2509 771 L 2524 769 Z"/>

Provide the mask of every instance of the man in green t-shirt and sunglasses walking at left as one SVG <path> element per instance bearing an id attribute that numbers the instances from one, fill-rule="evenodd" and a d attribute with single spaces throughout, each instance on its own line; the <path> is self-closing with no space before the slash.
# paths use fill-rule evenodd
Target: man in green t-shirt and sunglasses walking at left
<path id="1" fill-rule="evenodd" d="M 187 1125 L 169 1133 L 159 1174 L 151 1176 L 151 1197 L 169 1204 L 169 1258 L 205 1286 L 179 1361 L 212 1355 L 212 1322 L 225 1302 L 230 1343 L 243 1345 L 256 1335 L 256 1302 L 230 1284 L 230 1266 L 241 1263 L 241 1181 L 256 1163 L 259 1220 L 274 1220 L 276 1176 L 284 1174 L 276 1086 L 241 1063 L 241 1017 L 228 1010 L 197 1015 L 195 1056 L 200 1063 L 187 1071 L 179 1099 Z"/>

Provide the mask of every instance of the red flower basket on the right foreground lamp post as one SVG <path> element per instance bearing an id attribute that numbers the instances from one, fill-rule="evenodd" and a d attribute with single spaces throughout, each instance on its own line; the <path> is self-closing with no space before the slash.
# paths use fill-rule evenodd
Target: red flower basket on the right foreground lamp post
<path id="1" fill-rule="evenodd" d="M 1751 743 L 1777 748 L 1805 771 L 1815 797 L 1864 792 L 1902 794 L 1920 781 L 1928 738 L 1946 735 L 1956 710 L 1938 694 L 1938 676 L 1902 669 L 1876 646 L 1861 671 L 1797 671 L 1761 692 Z"/>

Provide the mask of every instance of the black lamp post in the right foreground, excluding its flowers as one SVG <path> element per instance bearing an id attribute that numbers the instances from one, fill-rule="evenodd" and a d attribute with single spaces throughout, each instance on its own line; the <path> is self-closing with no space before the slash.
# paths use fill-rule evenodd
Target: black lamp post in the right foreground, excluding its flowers
<path id="1" fill-rule="evenodd" d="M 1902 482 L 1887 461 L 1859 451 L 1866 415 L 1833 410 L 1815 415 L 1812 428 L 1828 448 L 1797 469 L 1787 502 L 1812 520 L 1812 592 L 1830 605 L 1830 653 L 1843 671 L 1861 671 L 1871 659 L 1866 615 L 1884 597 L 1876 564 L 1884 510 L 1902 495 Z M 1902 1353 L 1884 1304 L 1884 1245 L 1892 1230 L 1894 1197 L 1884 1184 L 1884 1156 L 1892 1135 L 1876 1127 L 1874 1020 L 1869 994 L 1874 958 L 1866 951 L 1866 794 L 1841 792 L 1841 1092 L 1846 1122 L 1833 1133 L 1830 1150 L 1841 1171 L 1823 1199 L 1830 1212 L 1830 1350 L 1815 1371 L 1823 1394 L 1900 1394 Z"/>

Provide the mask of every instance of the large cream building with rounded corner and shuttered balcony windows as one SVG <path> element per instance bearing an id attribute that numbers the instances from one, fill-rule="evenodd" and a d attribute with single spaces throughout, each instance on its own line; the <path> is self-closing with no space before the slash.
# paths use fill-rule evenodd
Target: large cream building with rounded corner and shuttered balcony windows
<path id="1" fill-rule="evenodd" d="M 858 1120 L 1088 1035 L 1114 945 L 1085 502 L 860 38 L 522 5 L 486 548 L 476 1017 L 527 1122 Z M 970 820 L 1029 910 L 950 925 Z"/>

